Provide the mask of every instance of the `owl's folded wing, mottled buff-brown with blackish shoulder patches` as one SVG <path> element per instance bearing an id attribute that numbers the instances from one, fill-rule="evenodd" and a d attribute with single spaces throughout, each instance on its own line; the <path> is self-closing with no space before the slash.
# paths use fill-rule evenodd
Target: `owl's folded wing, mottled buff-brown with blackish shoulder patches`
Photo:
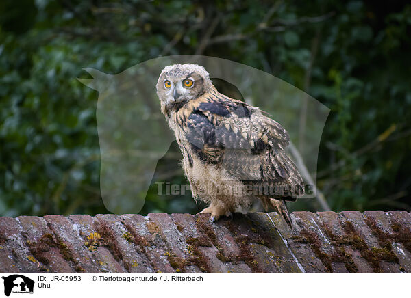
<path id="1" fill-rule="evenodd" d="M 260 109 L 212 90 L 183 105 L 173 118 L 190 165 L 197 158 L 251 185 L 282 183 L 303 194 L 303 180 L 284 151 L 288 133 Z"/>

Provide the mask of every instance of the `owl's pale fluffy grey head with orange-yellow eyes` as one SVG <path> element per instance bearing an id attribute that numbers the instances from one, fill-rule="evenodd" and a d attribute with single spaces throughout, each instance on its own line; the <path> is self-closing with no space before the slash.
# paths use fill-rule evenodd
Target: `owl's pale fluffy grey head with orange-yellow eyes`
<path id="1" fill-rule="evenodd" d="M 156 87 L 162 110 L 172 111 L 208 92 L 211 86 L 212 82 L 203 66 L 174 64 L 162 70 Z"/>

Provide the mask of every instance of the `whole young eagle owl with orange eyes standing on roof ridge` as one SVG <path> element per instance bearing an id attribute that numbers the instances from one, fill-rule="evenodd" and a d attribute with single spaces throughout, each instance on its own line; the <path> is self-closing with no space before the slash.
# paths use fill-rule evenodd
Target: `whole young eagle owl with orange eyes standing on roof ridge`
<path id="1" fill-rule="evenodd" d="M 166 66 L 156 87 L 192 196 L 209 204 L 201 213 L 214 221 L 260 200 L 292 226 L 286 201 L 303 194 L 303 180 L 284 151 L 286 130 L 258 107 L 219 93 L 197 64 Z"/>

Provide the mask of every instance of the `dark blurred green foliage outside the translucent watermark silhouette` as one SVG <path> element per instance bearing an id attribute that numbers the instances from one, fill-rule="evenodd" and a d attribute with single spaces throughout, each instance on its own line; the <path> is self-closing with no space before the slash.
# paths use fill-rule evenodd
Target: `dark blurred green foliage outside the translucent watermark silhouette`
<path id="1" fill-rule="evenodd" d="M 410 36 L 405 1 L 3 0 L 0 215 L 108 213 L 99 94 L 76 78 L 91 78 L 84 67 L 116 74 L 184 54 L 264 70 L 331 109 L 317 173 L 327 208 L 410 211 Z M 306 121 L 303 106 L 296 118 Z M 173 143 L 158 173 L 186 184 L 179 158 Z M 315 199 L 289 205 L 325 209 Z M 190 193 L 158 195 L 153 184 L 141 214 L 201 208 Z"/>

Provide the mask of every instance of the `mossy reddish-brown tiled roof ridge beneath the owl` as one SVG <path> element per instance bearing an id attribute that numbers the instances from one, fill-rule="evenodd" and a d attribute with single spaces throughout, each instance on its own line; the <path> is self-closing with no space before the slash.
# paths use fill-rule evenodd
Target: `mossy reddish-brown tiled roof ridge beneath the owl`
<path id="1" fill-rule="evenodd" d="M 406 211 L 0 217 L 3 273 L 411 273 Z"/>

